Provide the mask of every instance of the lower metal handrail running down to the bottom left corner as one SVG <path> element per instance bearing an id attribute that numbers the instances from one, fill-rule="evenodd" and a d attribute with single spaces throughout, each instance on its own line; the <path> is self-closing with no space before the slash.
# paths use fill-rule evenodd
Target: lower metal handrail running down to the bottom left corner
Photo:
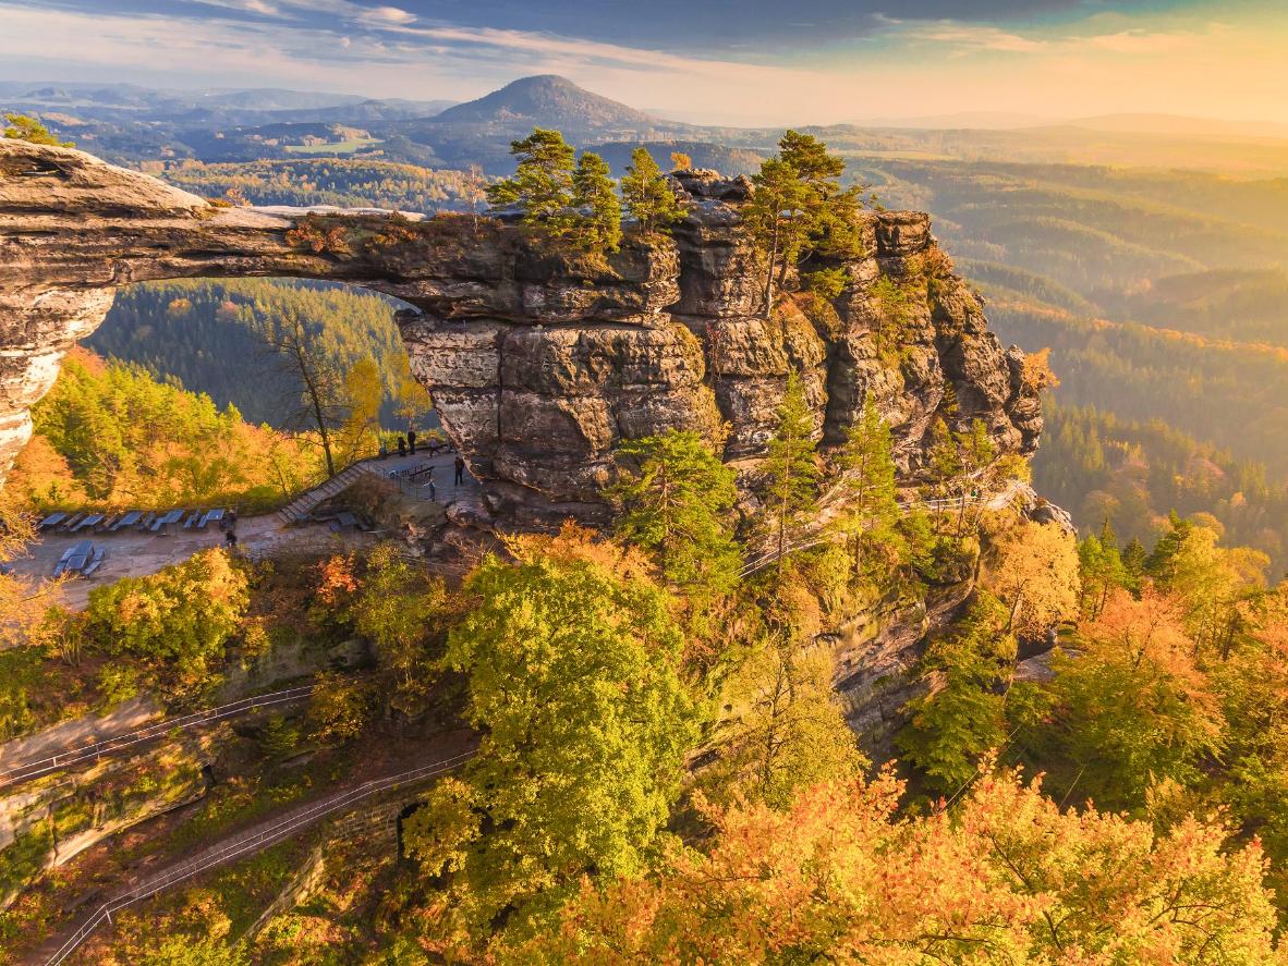
<path id="1" fill-rule="evenodd" d="M 465 764 L 474 756 L 474 753 L 475 752 L 473 751 L 465 751 L 443 759 L 442 761 L 435 761 L 430 765 L 422 765 L 408 772 L 402 772 L 397 775 L 374 778 L 370 782 L 363 782 L 362 784 L 345 792 L 340 792 L 330 799 L 323 799 L 303 811 L 294 813 L 281 822 L 260 828 L 252 835 L 234 838 L 228 845 L 224 845 L 214 851 L 202 853 L 189 862 L 180 863 L 179 866 L 166 869 L 161 875 L 144 880 L 129 891 L 99 905 L 98 909 L 94 911 L 94 914 L 90 916 L 89 920 L 86 920 L 71 936 L 68 936 L 58 951 L 48 960 L 48 966 L 59 966 L 59 963 L 64 962 L 67 957 L 71 956 L 95 929 L 98 929 L 103 922 L 112 921 L 113 912 L 120 912 L 128 905 L 148 899 L 157 893 L 169 889 L 176 882 L 192 878 L 193 876 L 206 872 L 224 862 L 240 858 L 251 851 L 258 851 L 259 849 L 264 849 L 269 845 L 276 845 L 277 842 L 289 838 L 294 832 L 298 832 L 326 815 L 334 814 L 335 811 L 353 805 L 371 795 L 388 791 L 389 788 L 394 788 L 399 784 L 419 782 L 422 778 L 431 778 L 444 772 L 451 772 L 452 769 Z"/>

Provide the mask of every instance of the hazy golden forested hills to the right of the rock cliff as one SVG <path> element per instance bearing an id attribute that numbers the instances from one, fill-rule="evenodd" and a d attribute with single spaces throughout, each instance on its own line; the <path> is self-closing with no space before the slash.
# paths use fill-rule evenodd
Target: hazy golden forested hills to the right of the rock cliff
<path id="1" fill-rule="evenodd" d="M 1288 564 L 1288 182 L 1203 171 L 854 158 L 923 207 L 998 335 L 1061 380 L 1038 488 L 1090 532 L 1212 514 Z"/>

